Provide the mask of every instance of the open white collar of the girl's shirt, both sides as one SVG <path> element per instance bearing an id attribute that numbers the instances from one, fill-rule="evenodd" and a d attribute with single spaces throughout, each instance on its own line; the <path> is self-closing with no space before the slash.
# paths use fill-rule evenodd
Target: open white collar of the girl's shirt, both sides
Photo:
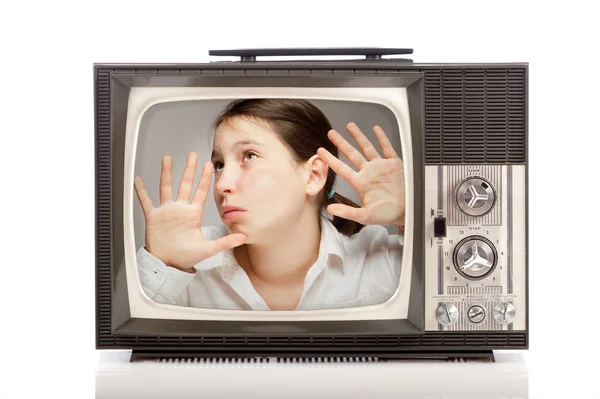
<path id="1" fill-rule="evenodd" d="M 339 265 L 342 272 L 346 272 L 346 251 L 344 250 L 344 241 L 342 234 L 338 232 L 333 223 L 329 220 L 327 212 L 323 210 L 320 214 L 321 221 L 321 241 L 319 243 L 319 256 L 315 264 L 309 270 L 309 274 L 319 275 L 327 266 L 335 267 Z M 337 260 L 330 259 L 331 256 Z M 233 255 L 233 249 L 219 252 L 215 259 L 215 265 L 221 266 L 221 276 L 227 283 L 231 283 L 236 273 L 243 271 Z M 315 276 L 316 277 L 316 276 Z"/>

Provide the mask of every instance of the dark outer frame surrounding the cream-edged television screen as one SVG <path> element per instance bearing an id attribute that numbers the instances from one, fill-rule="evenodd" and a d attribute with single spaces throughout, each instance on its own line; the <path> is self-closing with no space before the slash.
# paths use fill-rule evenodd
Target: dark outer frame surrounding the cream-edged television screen
<path id="1" fill-rule="evenodd" d="M 107 82 L 98 82 L 98 71 L 106 66 L 95 65 L 96 97 L 96 168 L 97 168 L 97 225 L 110 226 L 109 234 L 99 235 L 97 239 L 97 275 L 110 276 L 110 297 L 100 295 L 97 284 L 97 311 L 110 310 L 110 333 L 114 335 L 135 336 L 208 336 L 235 335 L 252 336 L 265 334 L 297 335 L 361 335 L 361 334 L 421 334 L 424 326 L 423 303 L 424 284 L 420 258 L 422 251 L 423 209 L 419 204 L 423 195 L 423 74 L 415 71 L 402 73 L 360 70 L 343 70 L 336 75 L 315 74 L 304 69 L 287 69 L 284 74 L 269 75 L 248 74 L 245 68 L 231 68 L 228 73 L 223 69 L 210 69 L 186 74 L 178 67 L 139 68 L 114 65 L 107 71 Z M 197 71 L 197 70 L 196 70 Z M 212 72 L 212 73 L 207 73 Z M 100 86 L 98 86 L 100 84 Z M 124 276 L 124 249 L 122 215 L 122 171 L 124 162 L 124 139 L 127 119 L 127 105 L 131 87 L 406 87 L 409 101 L 412 155 L 414 161 L 414 240 L 413 270 L 408 319 L 356 320 L 356 321 L 219 321 L 201 320 L 164 320 L 132 318 L 129 313 L 129 301 L 126 284 L 119 279 Z M 104 91 L 102 89 L 105 89 Z M 108 90 L 106 90 L 108 89 Z M 106 114 L 108 111 L 108 115 Z M 108 129 L 107 119 L 109 122 Z M 101 159 L 99 144 L 110 143 L 108 159 Z M 105 155 L 105 156 L 106 156 Z M 101 164 L 103 162 L 103 164 Z M 106 168 L 108 166 L 108 168 Z M 119 178 L 120 176 L 120 178 Z M 107 201 L 108 199 L 108 201 Z M 107 207 L 108 205 L 108 207 Z M 119 212 L 121 210 L 121 212 Z M 409 234 L 409 232 L 405 232 Z M 108 242 L 102 238 L 110 237 Z M 104 262 L 103 262 L 104 260 Z M 109 260 L 107 263 L 106 260 Z M 108 267 L 107 267 L 108 266 Z M 124 292 L 123 292 L 124 291 Z M 106 313 L 106 312 L 105 312 Z M 98 317 L 97 317 L 98 319 Z M 107 332 L 106 330 L 104 330 Z"/>

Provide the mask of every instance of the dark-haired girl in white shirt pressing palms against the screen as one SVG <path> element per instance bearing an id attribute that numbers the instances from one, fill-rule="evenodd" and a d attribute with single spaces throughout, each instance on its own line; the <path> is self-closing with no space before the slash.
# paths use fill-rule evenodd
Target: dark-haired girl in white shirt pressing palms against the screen
<path id="1" fill-rule="evenodd" d="M 142 287 L 162 303 L 218 309 L 301 310 L 372 305 L 396 291 L 402 263 L 402 161 L 375 126 L 383 157 L 354 123 L 361 154 L 305 100 L 234 101 L 214 123 L 211 161 L 192 193 L 187 158 L 177 198 L 163 157 L 160 206 L 140 177 L 146 219 L 137 253 Z M 338 148 L 356 168 L 337 159 Z M 224 227 L 201 226 L 214 174 Z M 340 175 L 362 207 L 335 193 Z M 333 220 L 330 220 L 333 215 Z M 388 235 L 381 225 L 398 225 Z"/>

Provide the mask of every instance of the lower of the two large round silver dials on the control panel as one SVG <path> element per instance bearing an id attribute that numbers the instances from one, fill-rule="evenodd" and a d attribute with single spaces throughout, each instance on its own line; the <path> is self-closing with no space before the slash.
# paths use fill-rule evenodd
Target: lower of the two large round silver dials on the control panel
<path id="1" fill-rule="evenodd" d="M 484 237 L 467 237 L 454 249 L 454 267 L 463 277 L 471 280 L 486 277 L 494 270 L 496 262 L 496 249 Z"/>

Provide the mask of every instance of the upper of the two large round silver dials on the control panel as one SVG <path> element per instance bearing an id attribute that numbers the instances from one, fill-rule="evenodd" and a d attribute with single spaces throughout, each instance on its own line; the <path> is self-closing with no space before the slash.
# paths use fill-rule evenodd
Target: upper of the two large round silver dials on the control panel
<path id="1" fill-rule="evenodd" d="M 456 203 L 469 216 L 483 216 L 496 202 L 496 191 L 492 183 L 482 177 L 470 177 L 456 189 Z"/>

